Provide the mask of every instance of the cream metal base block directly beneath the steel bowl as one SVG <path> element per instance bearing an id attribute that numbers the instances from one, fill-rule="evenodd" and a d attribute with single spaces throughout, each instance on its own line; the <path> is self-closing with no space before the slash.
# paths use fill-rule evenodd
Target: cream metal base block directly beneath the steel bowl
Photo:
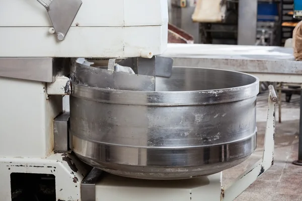
<path id="1" fill-rule="evenodd" d="M 220 200 L 222 172 L 186 180 L 143 180 L 105 173 L 96 184 L 96 200 Z M 85 194 L 82 194 L 82 199 Z"/>

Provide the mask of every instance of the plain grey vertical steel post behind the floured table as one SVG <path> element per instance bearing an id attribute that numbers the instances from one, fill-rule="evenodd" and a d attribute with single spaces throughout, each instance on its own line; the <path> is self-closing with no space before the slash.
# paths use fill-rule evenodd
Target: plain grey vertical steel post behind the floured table
<path id="1" fill-rule="evenodd" d="M 240 0 L 238 5 L 238 45 L 255 45 L 258 1 Z"/>

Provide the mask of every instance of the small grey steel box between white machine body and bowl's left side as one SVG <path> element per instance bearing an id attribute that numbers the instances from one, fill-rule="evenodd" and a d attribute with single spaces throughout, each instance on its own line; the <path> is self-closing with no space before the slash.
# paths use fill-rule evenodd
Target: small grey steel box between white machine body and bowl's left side
<path id="1" fill-rule="evenodd" d="M 55 152 L 66 152 L 69 150 L 68 141 L 69 112 L 65 112 L 53 121 L 53 140 Z"/>

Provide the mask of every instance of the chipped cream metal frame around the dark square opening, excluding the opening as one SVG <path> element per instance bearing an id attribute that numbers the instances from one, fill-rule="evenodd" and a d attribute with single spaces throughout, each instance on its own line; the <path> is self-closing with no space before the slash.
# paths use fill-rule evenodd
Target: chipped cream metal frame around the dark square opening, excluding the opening
<path id="1" fill-rule="evenodd" d="M 81 200 L 81 182 L 87 174 L 83 163 L 72 154 L 57 153 L 47 158 L 0 157 L 1 200 L 11 200 L 11 173 L 55 176 L 56 200 Z"/>

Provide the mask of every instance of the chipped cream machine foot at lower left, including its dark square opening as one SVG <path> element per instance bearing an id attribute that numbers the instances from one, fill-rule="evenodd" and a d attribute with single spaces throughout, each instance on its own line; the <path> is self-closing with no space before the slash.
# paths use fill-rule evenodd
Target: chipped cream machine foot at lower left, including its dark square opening
<path id="1" fill-rule="evenodd" d="M 55 200 L 81 200 L 81 182 L 87 174 L 84 164 L 68 153 L 56 153 L 47 158 L 0 157 L 0 169 L 2 172 L 0 200 L 6 201 L 12 200 L 12 197 L 17 198 L 19 195 L 23 200 L 24 194 L 28 195 L 25 191 L 33 193 L 30 196 L 37 196 L 33 192 L 36 189 L 31 186 L 33 178 L 54 179 Z M 14 173 L 18 175 L 14 177 Z M 19 183 L 24 185 L 16 187 L 14 182 L 17 185 Z M 46 182 L 49 183 L 49 181 Z M 40 189 L 36 191 L 44 191 L 44 193 L 47 193 L 45 192 L 47 190 L 51 191 L 49 188 L 43 188 L 43 181 L 38 187 Z"/>

